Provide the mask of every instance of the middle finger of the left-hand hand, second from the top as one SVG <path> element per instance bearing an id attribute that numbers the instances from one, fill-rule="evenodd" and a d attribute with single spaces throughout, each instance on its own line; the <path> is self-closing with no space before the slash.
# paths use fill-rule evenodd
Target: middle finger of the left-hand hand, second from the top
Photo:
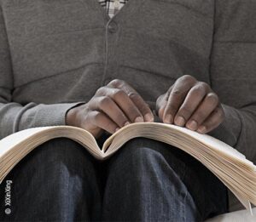
<path id="1" fill-rule="evenodd" d="M 119 88 L 108 88 L 107 95 L 117 104 L 125 113 L 125 116 L 131 122 L 144 122 L 143 114 L 137 109 L 124 90 Z"/>

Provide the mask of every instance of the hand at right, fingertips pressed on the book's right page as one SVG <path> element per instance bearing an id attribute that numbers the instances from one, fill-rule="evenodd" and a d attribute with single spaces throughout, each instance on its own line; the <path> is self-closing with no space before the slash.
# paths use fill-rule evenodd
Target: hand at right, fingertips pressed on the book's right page
<path id="1" fill-rule="evenodd" d="M 156 101 L 156 111 L 165 123 L 207 134 L 224 121 L 218 95 L 207 83 L 183 76 Z"/>

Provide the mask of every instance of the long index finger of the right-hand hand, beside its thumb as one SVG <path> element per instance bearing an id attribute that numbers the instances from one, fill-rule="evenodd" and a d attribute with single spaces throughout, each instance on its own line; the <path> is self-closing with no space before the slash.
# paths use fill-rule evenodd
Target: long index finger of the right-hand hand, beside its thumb
<path id="1" fill-rule="evenodd" d="M 172 88 L 166 104 L 166 109 L 164 111 L 164 122 L 173 122 L 177 111 L 183 104 L 184 99 L 186 98 L 186 95 L 188 94 L 190 88 L 195 85 L 195 83 L 195 78 L 191 78 L 189 76 L 184 76 L 177 80 Z"/>

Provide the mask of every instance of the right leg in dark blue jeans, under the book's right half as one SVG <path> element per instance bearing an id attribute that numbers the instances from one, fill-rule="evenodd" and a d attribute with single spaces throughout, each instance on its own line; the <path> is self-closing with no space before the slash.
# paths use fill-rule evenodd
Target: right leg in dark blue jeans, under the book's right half
<path id="1" fill-rule="evenodd" d="M 118 168 L 123 173 L 120 178 L 116 175 Z M 119 200 L 113 198 L 110 202 L 119 204 L 123 199 L 127 205 L 130 201 L 124 211 L 130 209 L 131 220 L 136 219 L 132 216 L 141 217 L 140 220 L 148 216 L 152 221 L 199 221 L 227 211 L 226 188 L 207 168 L 183 151 L 153 139 L 137 138 L 127 142 L 108 161 L 107 174 L 110 181 L 107 179 L 105 195 L 109 192 L 111 196 L 121 185 Z M 131 192 L 124 196 L 125 190 Z M 140 201 L 148 203 L 151 209 L 147 212 L 140 208 L 139 204 L 143 204 Z M 132 206 L 140 208 L 137 214 Z M 104 199 L 103 216 L 107 209 L 108 201 Z M 181 215 L 187 218 L 179 218 Z"/>

